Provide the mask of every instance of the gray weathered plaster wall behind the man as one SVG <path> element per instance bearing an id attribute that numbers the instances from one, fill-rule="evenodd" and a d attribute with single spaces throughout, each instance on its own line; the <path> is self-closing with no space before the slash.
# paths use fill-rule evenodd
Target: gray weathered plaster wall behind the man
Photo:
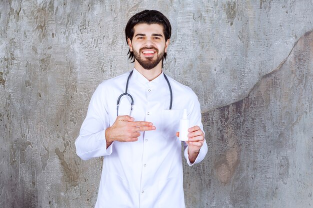
<path id="1" fill-rule="evenodd" d="M 146 8 L 202 108 L 187 208 L 313 207 L 312 0 L 0 1 L 0 207 L 93 207 L 101 159 L 74 140 L 95 87 L 132 68 L 123 29 Z"/>

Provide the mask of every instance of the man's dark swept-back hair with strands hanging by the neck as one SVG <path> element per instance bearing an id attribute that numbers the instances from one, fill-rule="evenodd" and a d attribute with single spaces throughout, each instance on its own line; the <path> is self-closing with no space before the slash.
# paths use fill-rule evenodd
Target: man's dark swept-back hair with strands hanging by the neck
<path id="1" fill-rule="evenodd" d="M 125 36 L 126 36 L 127 44 L 128 44 L 127 38 L 132 40 L 133 33 L 134 33 L 133 27 L 136 24 L 140 24 L 140 23 L 162 25 L 165 41 L 170 38 L 171 26 L 166 16 L 164 16 L 161 12 L 156 11 L 156 10 L 143 10 L 133 15 L 126 24 Z M 133 52 L 130 51 L 130 49 L 128 50 L 127 55 L 128 54 L 129 54 L 128 58 L 132 60 L 131 63 L 133 63 L 134 62 Z M 163 60 L 165 59 L 166 59 L 166 53 L 164 53 L 164 57 L 163 57 Z M 163 66 L 163 60 L 162 60 L 162 66 Z"/>

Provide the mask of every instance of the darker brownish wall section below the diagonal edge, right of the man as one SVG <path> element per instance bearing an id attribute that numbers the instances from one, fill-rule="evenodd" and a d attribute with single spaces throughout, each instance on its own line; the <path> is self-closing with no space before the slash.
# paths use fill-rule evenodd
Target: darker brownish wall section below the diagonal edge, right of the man
<path id="1" fill-rule="evenodd" d="M 313 206 L 312 75 L 309 31 L 246 98 L 202 114 L 208 153 L 184 165 L 187 207 Z"/>

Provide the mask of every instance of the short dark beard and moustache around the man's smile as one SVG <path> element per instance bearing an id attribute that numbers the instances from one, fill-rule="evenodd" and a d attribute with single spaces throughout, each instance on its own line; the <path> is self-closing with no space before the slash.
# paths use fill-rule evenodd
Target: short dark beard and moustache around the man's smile
<path id="1" fill-rule="evenodd" d="M 146 49 L 153 49 L 156 51 L 157 56 L 155 60 L 153 60 L 153 57 L 147 57 L 147 58 L 140 57 L 141 51 L 146 50 Z M 158 54 L 158 50 L 155 47 L 143 47 L 143 48 L 140 48 L 139 52 L 134 50 L 133 56 L 144 69 L 150 70 L 154 68 L 163 59 L 164 52 L 161 52 L 160 54 Z"/>

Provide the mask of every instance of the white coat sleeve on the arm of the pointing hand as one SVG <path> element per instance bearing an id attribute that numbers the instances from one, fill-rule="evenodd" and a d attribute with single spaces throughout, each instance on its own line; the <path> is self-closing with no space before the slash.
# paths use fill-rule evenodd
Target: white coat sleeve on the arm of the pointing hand
<path id="1" fill-rule="evenodd" d="M 75 141 L 76 154 L 82 160 L 110 155 L 113 143 L 106 149 L 105 129 L 109 127 L 103 83 L 94 91 L 86 118 Z"/>

